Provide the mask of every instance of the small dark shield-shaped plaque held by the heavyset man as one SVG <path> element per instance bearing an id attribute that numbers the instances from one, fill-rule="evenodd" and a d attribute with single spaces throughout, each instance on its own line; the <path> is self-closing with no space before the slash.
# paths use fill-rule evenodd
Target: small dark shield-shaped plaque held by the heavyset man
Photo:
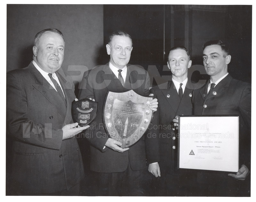
<path id="1" fill-rule="evenodd" d="M 72 118 L 79 126 L 86 126 L 90 124 L 95 119 L 97 110 L 98 102 L 94 102 L 86 98 L 72 102 Z"/>

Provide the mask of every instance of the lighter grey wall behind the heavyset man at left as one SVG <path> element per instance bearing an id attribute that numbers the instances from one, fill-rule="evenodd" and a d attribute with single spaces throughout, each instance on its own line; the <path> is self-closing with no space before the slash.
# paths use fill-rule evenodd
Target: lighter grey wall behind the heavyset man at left
<path id="1" fill-rule="evenodd" d="M 98 64 L 103 45 L 103 5 L 9 4 L 7 71 L 28 66 L 32 61 L 34 37 L 46 28 L 57 28 L 63 33 L 65 56 L 62 68 L 73 76 L 73 80 L 80 81 L 84 70 Z"/>

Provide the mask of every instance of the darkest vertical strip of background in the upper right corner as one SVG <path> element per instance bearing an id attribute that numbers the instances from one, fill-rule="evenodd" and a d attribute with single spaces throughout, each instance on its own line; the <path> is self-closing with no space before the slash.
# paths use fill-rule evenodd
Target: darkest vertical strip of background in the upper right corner
<path id="1" fill-rule="evenodd" d="M 227 7 L 225 38 L 230 44 L 228 71 L 238 80 L 252 82 L 252 6 Z"/>

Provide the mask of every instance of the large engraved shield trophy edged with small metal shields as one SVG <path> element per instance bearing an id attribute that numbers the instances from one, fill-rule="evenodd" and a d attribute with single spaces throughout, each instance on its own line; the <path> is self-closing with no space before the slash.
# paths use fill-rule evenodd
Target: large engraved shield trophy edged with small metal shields
<path id="1" fill-rule="evenodd" d="M 105 99 L 104 123 L 109 136 L 130 147 L 147 131 L 153 113 L 149 108 L 152 97 L 133 90 L 123 93 L 109 91 Z"/>

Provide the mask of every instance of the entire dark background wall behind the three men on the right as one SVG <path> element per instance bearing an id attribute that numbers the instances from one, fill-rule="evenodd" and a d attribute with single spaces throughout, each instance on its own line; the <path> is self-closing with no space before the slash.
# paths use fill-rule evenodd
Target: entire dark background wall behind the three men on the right
<path id="1" fill-rule="evenodd" d="M 108 42 L 108 35 L 118 29 L 132 36 L 130 63 L 148 69 L 154 78 L 153 85 L 170 78 L 166 62 L 171 47 L 187 47 L 192 65 L 203 65 L 203 44 L 218 39 L 230 46 L 230 74 L 251 82 L 250 5 L 104 5 L 104 44 Z M 208 78 L 202 66 L 192 67 L 190 73 L 195 82 Z M 165 79 L 165 75 L 169 77 Z"/>

